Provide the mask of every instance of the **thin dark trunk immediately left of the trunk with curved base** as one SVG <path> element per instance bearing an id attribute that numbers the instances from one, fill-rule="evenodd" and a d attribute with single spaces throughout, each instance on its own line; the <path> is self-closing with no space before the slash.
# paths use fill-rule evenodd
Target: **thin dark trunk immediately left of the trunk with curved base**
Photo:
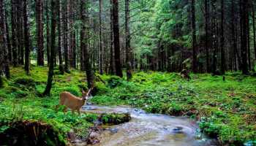
<path id="1" fill-rule="evenodd" d="M 46 0 L 46 53 L 47 53 L 47 64 L 50 65 L 50 18 L 49 18 L 49 4 Z"/>

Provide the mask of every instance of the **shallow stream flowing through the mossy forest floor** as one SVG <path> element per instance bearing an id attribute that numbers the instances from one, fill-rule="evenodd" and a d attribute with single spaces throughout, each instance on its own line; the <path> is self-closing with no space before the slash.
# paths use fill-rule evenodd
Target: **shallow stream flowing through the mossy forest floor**
<path id="1" fill-rule="evenodd" d="M 198 130 L 195 120 L 161 114 L 148 114 L 129 107 L 102 107 L 86 105 L 84 112 L 125 113 L 132 120 L 106 128 L 99 136 L 97 146 L 208 146 L 217 145 Z"/>

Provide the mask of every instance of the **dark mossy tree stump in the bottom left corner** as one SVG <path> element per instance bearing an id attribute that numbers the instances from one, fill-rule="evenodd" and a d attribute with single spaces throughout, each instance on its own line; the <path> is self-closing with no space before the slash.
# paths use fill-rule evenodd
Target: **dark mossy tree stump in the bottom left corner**
<path id="1" fill-rule="evenodd" d="M 59 131 L 46 123 L 25 120 L 8 123 L 6 127 L 0 133 L 0 145 L 66 145 Z"/>

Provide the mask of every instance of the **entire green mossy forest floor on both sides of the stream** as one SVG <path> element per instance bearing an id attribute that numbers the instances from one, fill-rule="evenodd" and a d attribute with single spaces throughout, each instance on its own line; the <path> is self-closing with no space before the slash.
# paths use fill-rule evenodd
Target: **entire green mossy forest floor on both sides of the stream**
<path id="1" fill-rule="evenodd" d="M 69 131 L 84 137 L 92 126 L 95 114 L 64 115 L 55 111 L 59 93 L 69 91 L 80 96 L 86 88 L 83 72 L 72 70 L 59 74 L 55 70 L 50 97 L 39 97 L 45 89 L 46 67 L 31 68 L 26 76 L 21 67 L 11 69 L 11 80 L 0 88 L 0 136 L 18 120 L 39 120 L 56 128 L 67 137 Z M 199 121 L 201 130 L 220 142 L 241 145 L 256 144 L 256 77 L 240 72 L 222 76 L 191 74 L 187 81 L 176 73 L 138 72 L 130 82 L 116 76 L 101 75 L 97 79 L 97 95 L 90 102 L 102 105 L 130 105 L 146 112 L 186 115 Z"/>

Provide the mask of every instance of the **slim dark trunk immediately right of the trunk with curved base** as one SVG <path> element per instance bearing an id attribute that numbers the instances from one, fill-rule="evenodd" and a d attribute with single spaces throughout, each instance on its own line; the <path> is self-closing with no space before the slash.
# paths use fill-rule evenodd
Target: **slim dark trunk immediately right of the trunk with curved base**
<path id="1" fill-rule="evenodd" d="M 63 20 L 62 20 L 62 13 L 61 13 L 61 7 L 62 7 L 62 1 L 58 0 L 57 2 L 57 7 L 58 7 L 58 31 L 59 31 L 59 37 L 58 37 L 58 53 L 59 53 L 59 72 L 61 74 L 64 74 L 64 67 L 63 67 L 63 61 L 62 61 L 62 48 L 63 48 L 63 32 L 62 32 L 62 24 L 63 24 Z"/>

